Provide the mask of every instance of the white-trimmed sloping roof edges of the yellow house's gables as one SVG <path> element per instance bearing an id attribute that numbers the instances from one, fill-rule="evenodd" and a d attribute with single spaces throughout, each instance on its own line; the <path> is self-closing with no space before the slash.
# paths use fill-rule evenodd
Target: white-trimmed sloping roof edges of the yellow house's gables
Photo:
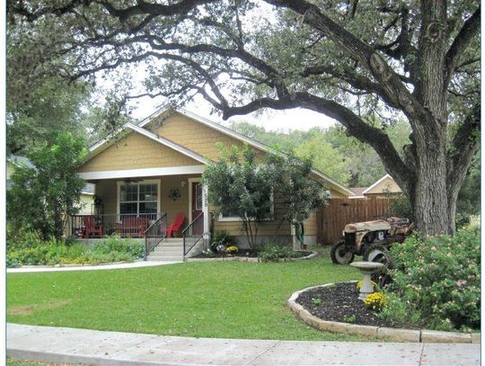
<path id="1" fill-rule="evenodd" d="M 173 108 L 172 106 L 168 106 L 168 107 L 164 106 L 160 110 L 158 110 L 157 112 L 154 112 L 150 116 L 146 117 L 143 121 L 141 121 L 137 125 L 128 122 L 121 129 L 118 129 L 113 134 L 111 134 L 108 138 L 104 138 L 101 141 L 94 144 L 92 147 L 89 148 L 88 156 L 86 156 L 86 159 L 90 159 L 91 157 L 100 154 L 101 151 L 103 151 L 107 147 L 110 147 L 110 145 L 112 145 L 114 143 L 114 137 L 116 135 L 124 136 L 124 135 L 128 134 L 130 131 L 134 130 L 137 133 L 140 133 L 147 138 L 152 138 L 154 141 L 157 141 L 157 142 L 163 144 L 166 147 L 171 147 L 174 150 L 179 151 L 181 154 L 184 154 L 186 156 L 190 156 L 191 158 L 198 160 L 199 162 L 201 162 L 203 164 L 207 164 L 208 163 L 207 159 L 204 158 L 203 156 L 200 156 L 195 151 L 192 151 L 187 147 L 182 147 L 180 144 L 176 144 L 176 143 L 174 143 L 173 141 L 170 141 L 167 138 L 162 138 L 160 136 L 157 136 L 156 134 L 149 131 L 148 129 L 145 129 L 145 126 L 147 124 L 149 124 L 151 121 L 154 121 L 155 118 L 163 117 L 163 115 L 165 115 L 165 116 L 170 115 L 173 112 L 180 113 L 181 115 L 190 118 L 190 120 L 192 120 L 192 121 L 197 121 L 198 123 L 201 123 L 201 124 L 211 128 L 211 129 L 216 129 L 217 131 L 219 131 L 219 132 L 221 132 L 221 133 L 223 133 L 227 136 L 230 136 L 234 139 L 237 139 L 237 140 L 240 140 L 244 143 L 247 143 L 249 146 L 258 148 L 261 151 L 264 151 L 264 152 L 272 151 L 272 152 L 274 152 L 271 147 L 269 147 L 265 144 L 262 144 L 259 141 L 256 141 L 252 138 L 248 138 L 246 136 L 243 136 L 242 134 L 234 131 L 233 129 L 228 129 L 225 126 L 222 126 L 219 123 L 216 123 L 214 121 L 209 121 L 206 118 L 201 117 L 196 113 L 189 112 L 189 111 L 185 110 L 184 108 Z M 332 179 L 327 174 L 323 174 L 322 172 L 320 172 L 317 169 L 312 169 L 312 173 L 317 175 L 318 177 L 322 178 L 323 180 L 325 180 L 327 183 L 329 183 L 329 185 L 331 185 L 331 188 L 335 189 L 336 191 L 343 192 L 344 194 L 348 194 L 350 196 L 355 195 L 354 192 L 349 190 L 343 184 L 340 184 L 336 180 Z"/>

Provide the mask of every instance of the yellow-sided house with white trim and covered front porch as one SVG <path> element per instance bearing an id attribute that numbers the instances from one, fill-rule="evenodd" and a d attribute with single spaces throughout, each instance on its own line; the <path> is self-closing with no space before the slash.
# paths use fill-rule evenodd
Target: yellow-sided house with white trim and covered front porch
<path id="1" fill-rule="evenodd" d="M 269 151 L 269 147 L 216 122 L 172 108 L 137 125 L 127 123 L 116 137 L 90 147 L 78 174 L 95 184 L 100 214 L 95 215 L 98 228 L 87 236 L 116 232 L 146 237 L 148 227 L 162 222 L 163 228 L 170 228 L 179 218 L 183 222 L 176 228 L 175 236 L 181 237 L 185 229 L 185 242 L 190 241 L 189 232 L 193 244 L 200 239 L 207 242 L 211 231 L 227 230 L 243 245 L 240 219 L 213 215 L 214 209 L 207 205 L 207 187 L 200 183 L 205 166 L 219 156 L 216 143 L 240 148 L 248 144 L 260 157 Z M 325 184 L 331 198 L 353 195 L 322 172 L 313 170 L 312 175 Z M 290 225 L 280 225 L 281 210 L 282 202 L 275 201 L 274 219 L 260 224 L 260 239 L 286 243 L 293 240 Z M 82 227 L 85 220 L 73 218 L 73 229 Z M 306 243 L 316 243 L 316 214 L 306 220 L 305 231 Z M 184 254 L 189 250 L 186 248 Z"/>

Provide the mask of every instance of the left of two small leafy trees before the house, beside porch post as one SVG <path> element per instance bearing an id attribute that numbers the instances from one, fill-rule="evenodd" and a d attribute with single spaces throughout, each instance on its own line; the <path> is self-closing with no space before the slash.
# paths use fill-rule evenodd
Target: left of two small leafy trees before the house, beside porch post
<path id="1" fill-rule="evenodd" d="M 242 152 L 236 146 L 218 148 L 219 161 L 208 165 L 202 176 L 207 199 L 219 212 L 242 220 L 248 244 L 254 248 L 260 222 L 272 218 L 272 172 L 257 164 L 256 152 L 247 145 Z"/>

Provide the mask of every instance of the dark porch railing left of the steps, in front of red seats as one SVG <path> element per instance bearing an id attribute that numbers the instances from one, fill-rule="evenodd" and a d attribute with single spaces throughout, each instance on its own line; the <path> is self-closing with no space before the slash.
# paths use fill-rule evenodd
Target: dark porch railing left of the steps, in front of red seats
<path id="1" fill-rule="evenodd" d="M 87 239 L 112 234 L 120 237 L 144 237 L 145 230 L 162 216 L 163 213 L 160 212 L 139 215 L 75 215 L 71 216 L 68 234 Z"/>

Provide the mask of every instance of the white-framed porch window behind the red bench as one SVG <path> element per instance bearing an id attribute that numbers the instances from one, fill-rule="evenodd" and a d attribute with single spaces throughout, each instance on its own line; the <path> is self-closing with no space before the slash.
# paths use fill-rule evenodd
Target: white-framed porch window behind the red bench
<path id="1" fill-rule="evenodd" d="M 119 183 L 119 214 L 143 216 L 158 211 L 158 183 Z"/>

